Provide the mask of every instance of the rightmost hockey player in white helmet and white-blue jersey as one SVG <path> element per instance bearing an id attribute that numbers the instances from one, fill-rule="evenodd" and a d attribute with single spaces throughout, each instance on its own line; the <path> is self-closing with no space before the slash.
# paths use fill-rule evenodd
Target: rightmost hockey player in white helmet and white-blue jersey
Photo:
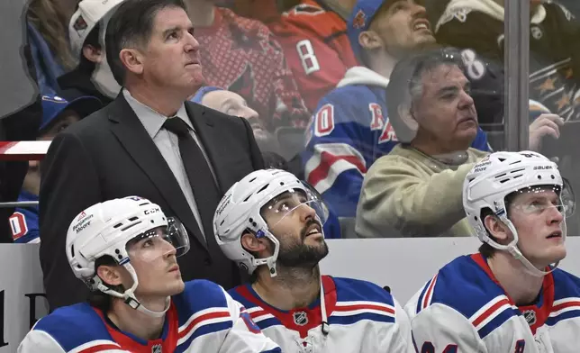
<path id="1" fill-rule="evenodd" d="M 577 352 L 580 278 L 556 268 L 574 197 L 557 165 L 536 152 L 493 153 L 467 174 L 463 205 L 483 244 L 405 305 L 415 349 Z"/>

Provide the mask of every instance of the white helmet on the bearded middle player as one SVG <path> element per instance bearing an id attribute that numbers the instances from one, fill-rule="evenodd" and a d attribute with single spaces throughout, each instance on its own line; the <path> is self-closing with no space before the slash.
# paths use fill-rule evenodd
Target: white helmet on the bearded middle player
<path id="1" fill-rule="evenodd" d="M 284 210 L 285 214 L 306 204 L 314 209 L 322 227 L 328 219 L 328 209 L 321 195 L 306 182 L 280 169 L 261 169 L 250 173 L 231 186 L 217 206 L 213 216 L 215 239 L 225 256 L 247 270 L 250 275 L 261 265 L 267 265 L 270 276 L 277 275 L 276 259 L 280 243 L 268 228 L 261 211 L 265 205 L 275 201 L 276 196 L 286 192 L 302 193 L 304 202 Z M 274 243 L 273 254 L 267 258 L 255 258 L 243 249 L 241 236 L 247 231 L 251 231 L 258 238 L 266 237 L 271 240 Z"/>

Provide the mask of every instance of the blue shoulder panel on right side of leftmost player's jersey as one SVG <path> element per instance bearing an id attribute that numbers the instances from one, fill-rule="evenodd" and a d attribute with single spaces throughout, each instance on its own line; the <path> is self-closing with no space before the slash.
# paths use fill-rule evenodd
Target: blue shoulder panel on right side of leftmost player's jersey
<path id="1" fill-rule="evenodd" d="M 205 279 L 195 279 L 186 282 L 186 288 L 180 294 L 173 296 L 179 321 L 186 320 L 195 312 L 211 309 L 227 309 L 228 301 L 221 285 Z"/>

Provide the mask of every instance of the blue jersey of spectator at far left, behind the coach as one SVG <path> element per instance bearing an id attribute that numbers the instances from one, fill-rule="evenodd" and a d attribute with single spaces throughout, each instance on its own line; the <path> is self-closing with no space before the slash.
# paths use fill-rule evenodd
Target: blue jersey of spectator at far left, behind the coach
<path id="1" fill-rule="evenodd" d="M 18 201 L 38 201 L 38 195 L 22 191 L 18 195 Z M 36 243 L 40 242 L 38 224 L 38 205 L 28 207 L 17 207 L 14 213 L 8 218 L 12 239 L 15 243 Z"/>

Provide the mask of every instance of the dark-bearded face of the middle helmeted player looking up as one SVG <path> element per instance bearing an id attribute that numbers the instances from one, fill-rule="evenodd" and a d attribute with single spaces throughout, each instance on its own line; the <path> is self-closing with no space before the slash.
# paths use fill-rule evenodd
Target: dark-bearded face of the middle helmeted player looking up
<path id="1" fill-rule="evenodd" d="M 279 266 L 314 267 L 328 254 L 322 223 L 306 201 L 301 192 L 285 193 L 262 212 L 268 229 L 280 242 Z"/>

